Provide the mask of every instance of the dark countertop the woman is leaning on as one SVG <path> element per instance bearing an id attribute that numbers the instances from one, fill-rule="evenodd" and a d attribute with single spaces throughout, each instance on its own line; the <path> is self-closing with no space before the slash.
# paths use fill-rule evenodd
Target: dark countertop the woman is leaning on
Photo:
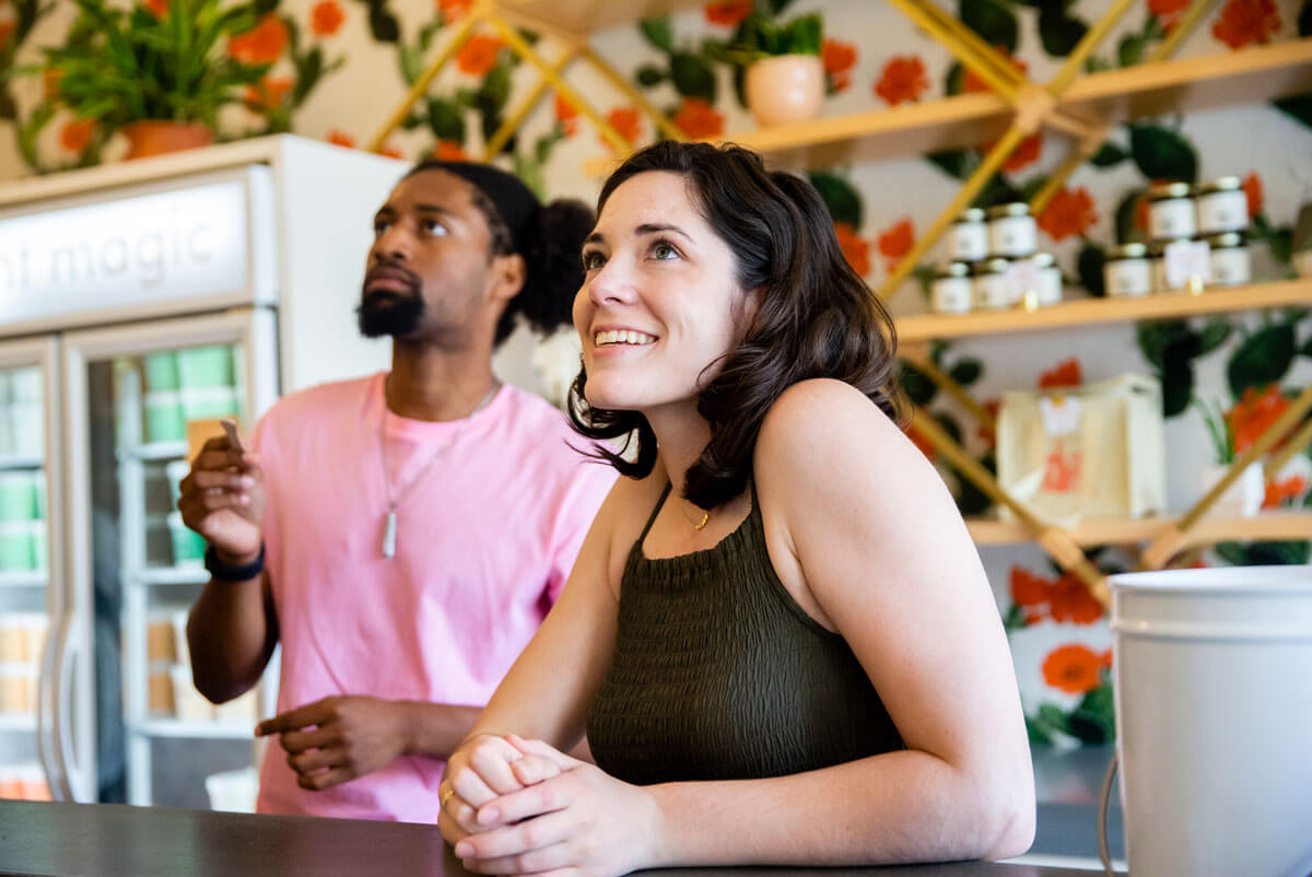
<path id="1" fill-rule="evenodd" d="M 1092 815 L 1092 807 L 1086 807 L 1085 814 Z M 24 801 L 0 801 L 0 873 L 58 877 L 468 877 L 432 826 Z M 766 873 L 766 869 L 681 869 L 666 873 L 670 877 L 747 877 Z M 771 868 L 768 873 L 771 877 L 1089 877 L 1086 870 L 1008 863 L 878 869 Z"/>

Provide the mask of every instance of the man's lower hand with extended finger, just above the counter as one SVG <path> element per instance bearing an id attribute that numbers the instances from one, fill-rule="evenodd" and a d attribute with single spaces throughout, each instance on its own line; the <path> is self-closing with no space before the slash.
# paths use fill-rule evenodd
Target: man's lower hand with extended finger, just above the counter
<path id="1" fill-rule="evenodd" d="M 408 705 L 358 695 L 299 706 L 260 722 L 255 733 L 282 737 L 297 784 L 311 792 L 373 773 L 412 748 Z"/>

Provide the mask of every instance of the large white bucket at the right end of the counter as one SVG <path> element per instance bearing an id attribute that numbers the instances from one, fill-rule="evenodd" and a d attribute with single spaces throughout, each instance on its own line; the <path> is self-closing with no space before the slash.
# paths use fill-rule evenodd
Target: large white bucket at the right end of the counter
<path id="1" fill-rule="evenodd" d="M 1312 873 L 1312 566 L 1115 575 L 1134 877 Z"/>

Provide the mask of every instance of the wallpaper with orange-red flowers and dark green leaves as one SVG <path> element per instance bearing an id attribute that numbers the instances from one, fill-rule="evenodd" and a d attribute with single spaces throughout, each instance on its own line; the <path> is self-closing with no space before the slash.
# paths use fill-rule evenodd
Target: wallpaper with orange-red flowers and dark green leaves
<path id="1" fill-rule="evenodd" d="M 245 89 L 240 106 L 224 113 L 220 139 L 295 131 L 358 148 L 421 75 L 453 24 L 470 13 L 472 0 L 265 0 L 265 5 L 258 22 L 222 49 L 268 71 Z M 1017 71 L 1044 81 L 1110 0 L 943 0 L 943 5 L 1005 53 Z M 144 7 L 155 16 L 169 9 L 165 0 L 147 0 Z M 1179 26 L 1187 7 L 1189 0 L 1138 4 L 1089 59 L 1088 70 L 1140 63 Z M 597 34 L 593 47 L 689 137 L 732 137 L 753 126 L 732 54 L 753 9 L 777 21 L 821 14 L 825 116 L 989 91 L 896 11 L 865 0 L 707 3 Z M 93 122 L 50 109 L 58 102 L 59 83 L 26 68 L 39 62 L 42 46 L 59 45 L 68 20 L 64 4 L 0 0 L 0 70 L 14 71 L 0 79 L 0 180 L 115 158 L 115 140 L 97 138 Z M 1309 33 L 1312 3 L 1224 0 L 1183 41 L 1178 56 L 1241 51 Z M 526 37 L 546 58 L 559 56 L 550 38 Z M 625 138 L 643 143 L 657 135 L 639 108 L 596 74 L 577 66 L 568 77 Z M 411 108 L 383 151 L 408 159 L 479 156 L 534 81 L 534 71 L 499 35 L 482 32 Z M 35 125 L 42 113 L 45 123 Z M 1144 196 L 1151 182 L 1237 175 L 1248 200 L 1254 274 L 1288 277 L 1295 215 L 1312 201 L 1309 126 L 1312 96 L 1124 125 L 1038 215 L 1040 249 L 1056 256 L 1069 289 L 1099 295 L 1107 249 L 1145 235 Z M 808 173 L 829 205 L 848 260 L 879 286 L 989 147 L 981 142 Z M 1023 139 L 977 203 L 1027 198 L 1069 148 L 1069 140 L 1051 130 Z M 610 154 L 580 109 L 548 91 L 505 142 L 499 161 L 539 192 L 590 200 L 600 180 L 588 177 L 583 163 Z M 941 255 L 932 252 L 926 261 Z M 924 291 L 920 269 L 893 299 L 895 314 L 924 312 Z M 1009 389 L 1075 386 L 1124 372 L 1155 374 L 1164 389 L 1170 504 L 1185 508 L 1203 491 L 1198 470 L 1241 453 L 1312 378 L 1312 310 L 972 339 L 937 344 L 933 358 L 993 411 Z M 917 403 L 985 466 L 996 466 L 991 431 L 914 368 L 904 366 L 903 375 Z M 934 458 L 928 442 L 911 437 Z M 946 461 L 935 465 L 964 513 L 988 513 L 989 502 L 980 491 Z M 1266 483 L 1265 507 L 1312 508 L 1309 481 L 1312 456 L 1294 456 Z M 1111 652 L 1102 607 L 1035 546 L 984 547 L 981 554 L 1012 637 L 1031 737 L 1110 739 Z M 1134 562 L 1114 547 L 1090 551 L 1090 558 L 1109 572 Z M 1223 544 L 1187 561 L 1299 563 L 1308 561 L 1308 542 Z"/>

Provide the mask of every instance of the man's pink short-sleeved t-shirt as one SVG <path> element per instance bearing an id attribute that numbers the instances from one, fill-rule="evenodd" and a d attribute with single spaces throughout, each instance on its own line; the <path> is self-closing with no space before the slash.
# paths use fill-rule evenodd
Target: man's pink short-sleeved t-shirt
<path id="1" fill-rule="evenodd" d="M 279 713 L 332 695 L 487 704 L 560 593 L 615 478 L 571 448 L 583 440 L 530 393 L 506 385 L 464 420 L 429 423 L 388 411 L 384 379 L 287 396 L 252 435 L 269 495 Z M 400 498 L 391 559 L 384 432 Z M 308 792 L 274 739 L 256 807 L 436 822 L 442 767 L 403 756 Z"/>

